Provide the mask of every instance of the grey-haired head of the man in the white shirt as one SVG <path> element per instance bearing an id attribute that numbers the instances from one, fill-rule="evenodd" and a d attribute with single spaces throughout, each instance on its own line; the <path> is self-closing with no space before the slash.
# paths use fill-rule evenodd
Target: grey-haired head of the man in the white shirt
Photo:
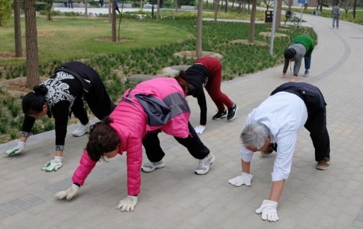
<path id="1" fill-rule="evenodd" d="M 265 124 L 253 123 L 246 125 L 242 131 L 241 139 L 246 148 L 261 149 L 269 135 L 269 128 Z"/>

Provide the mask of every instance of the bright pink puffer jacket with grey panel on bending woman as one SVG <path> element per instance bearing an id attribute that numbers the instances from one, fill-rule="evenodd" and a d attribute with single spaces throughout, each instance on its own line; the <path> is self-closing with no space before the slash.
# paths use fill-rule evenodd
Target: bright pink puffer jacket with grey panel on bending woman
<path id="1" fill-rule="evenodd" d="M 135 95 L 152 96 L 157 102 L 170 108 L 167 122 L 163 125 L 152 125 L 153 120 Z M 188 120 L 190 111 L 184 99 L 184 93 L 174 78 L 155 78 L 138 84 L 135 88 L 127 90 L 115 110 L 109 115 L 113 122 L 110 126 L 118 133 L 121 144 L 120 152 L 126 151 L 127 156 L 127 192 L 128 195 L 140 193 L 142 138 L 148 131 L 161 129 L 167 134 L 186 138 L 189 135 Z M 83 185 L 96 162 L 84 151 L 80 165 L 73 174 L 73 182 Z"/>

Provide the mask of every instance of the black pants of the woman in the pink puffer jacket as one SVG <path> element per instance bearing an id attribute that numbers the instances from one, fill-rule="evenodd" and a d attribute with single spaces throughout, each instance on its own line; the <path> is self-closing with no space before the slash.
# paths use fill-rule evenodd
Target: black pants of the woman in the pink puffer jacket
<path id="1" fill-rule="evenodd" d="M 174 137 L 179 143 L 185 146 L 189 153 L 196 159 L 203 159 L 209 154 L 209 149 L 201 142 L 198 135 L 195 133 L 193 126 L 188 122 L 189 135 L 187 138 Z M 165 153 L 160 146 L 158 134 L 161 131 L 154 131 L 146 135 L 142 144 L 145 147 L 146 155 L 151 162 L 158 162 L 163 159 Z"/>

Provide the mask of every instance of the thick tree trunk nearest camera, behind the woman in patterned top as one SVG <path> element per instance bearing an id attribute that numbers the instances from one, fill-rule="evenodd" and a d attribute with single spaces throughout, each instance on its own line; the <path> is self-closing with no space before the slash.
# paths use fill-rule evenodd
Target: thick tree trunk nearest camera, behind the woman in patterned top
<path id="1" fill-rule="evenodd" d="M 26 87 L 40 83 L 35 0 L 25 1 Z"/>

